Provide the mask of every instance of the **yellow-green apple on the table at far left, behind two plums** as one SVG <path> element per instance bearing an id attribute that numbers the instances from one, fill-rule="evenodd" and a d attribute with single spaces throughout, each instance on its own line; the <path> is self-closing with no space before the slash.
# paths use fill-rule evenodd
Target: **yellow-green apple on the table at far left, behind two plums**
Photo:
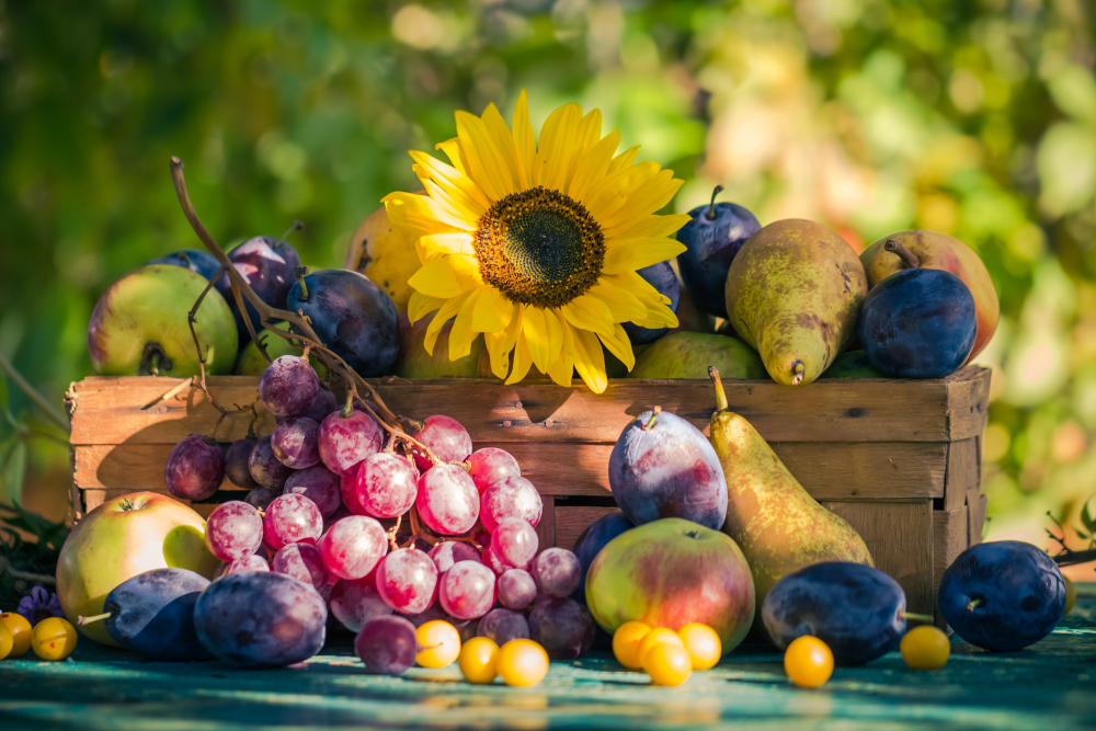
<path id="1" fill-rule="evenodd" d="M 106 595 L 127 579 L 165 568 L 163 539 L 180 525 L 201 532 L 205 522 L 186 505 L 156 492 L 115 498 L 88 513 L 57 559 L 57 598 L 68 620 L 96 642 L 118 647 L 103 623 L 80 627 L 77 619 L 101 614 Z"/>

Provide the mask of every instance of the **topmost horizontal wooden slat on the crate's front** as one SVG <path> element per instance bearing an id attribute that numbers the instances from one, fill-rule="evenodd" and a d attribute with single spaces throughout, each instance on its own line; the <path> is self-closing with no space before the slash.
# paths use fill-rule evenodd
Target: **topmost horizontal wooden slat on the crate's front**
<path id="1" fill-rule="evenodd" d="M 731 408 L 770 442 L 946 442 L 960 433 L 960 416 L 974 395 L 969 380 L 984 369 L 967 368 L 950 380 L 827 379 L 807 388 L 769 381 L 726 381 Z M 855 380 L 855 382 L 854 382 Z M 180 379 L 92 378 L 73 384 L 70 411 L 73 444 L 171 444 L 191 433 L 209 433 L 219 414 L 196 388 L 157 401 Z M 979 381 L 980 382 L 980 381 Z M 258 379 L 208 379 L 224 406 L 254 401 Z M 388 406 L 411 418 L 444 411 L 460 421 L 477 442 L 615 442 L 640 412 L 661 406 L 699 427 L 715 408 L 705 380 L 612 380 L 594 395 L 579 381 L 503 386 L 483 379 L 395 381 L 378 386 Z M 152 404 L 150 408 L 144 407 Z M 442 408 L 444 404 L 444 408 Z M 958 404 L 949 414 L 949 408 Z M 264 425 L 270 414 L 260 407 Z M 963 424 L 974 422 L 967 419 Z M 265 422 L 270 421 L 269 424 Z M 247 433 L 250 414 L 226 419 L 217 438 Z M 968 426 L 962 426 L 968 429 Z M 969 426 L 973 429 L 973 426 Z M 973 434 L 970 434 L 971 436 Z"/>

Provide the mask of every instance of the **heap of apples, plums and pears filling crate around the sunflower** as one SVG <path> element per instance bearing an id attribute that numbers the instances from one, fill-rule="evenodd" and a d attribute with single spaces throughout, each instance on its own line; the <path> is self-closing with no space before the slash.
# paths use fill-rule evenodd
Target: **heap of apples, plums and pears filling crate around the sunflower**
<path id="1" fill-rule="evenodd" d="M 610 377 L 704 378 L 715 364 L 728 377 L 785 385 L 820 377 L 938 378 L 969 363 L 996 330 L 990 275 L 978 254 L 950 236 L 902 231 L 857 256 L 821 224 L 788 219 L 762 227 L 747 209 L 715 196 L 689 216 L 677 232 L 686 247 L 677 256 L 681 278 L 667 262 L 639 271 L 666 296 L 681 324 L 670 331 L 625 323 L 636 365 L 628 373 L 607 355 Z M 384 208 L 366 224 L 384 242 L 381 231 L 390 228 Z M 228 258 L 264 302 L 308 316 L 320 340 L 362 376 L 490 377 L 481 346 L 449 361 L 450 323 L 427 353 L 433 316 L 412 325 L 375 283 L 407 278 L 404 260 L 416 255 L 411 243 L 403 249 L 370 262 L 373 278 L 350 270 L 307 273 L 297 251 L 275 237 L 250 239 Z M 89 327 L 95 373 L 196 375 L 197 349 L 182 313 L 219 270 L 212 254 L 185 250 L 111 285 Z M 250 302 L 240 310 L 221 274 L 193 325 L 207 373 L 262 373 L 266 359 L 244 315 L 260 329 L 258 311 Z M 272 357 L 290 352 L 287 341 L 260 333 Z"/>

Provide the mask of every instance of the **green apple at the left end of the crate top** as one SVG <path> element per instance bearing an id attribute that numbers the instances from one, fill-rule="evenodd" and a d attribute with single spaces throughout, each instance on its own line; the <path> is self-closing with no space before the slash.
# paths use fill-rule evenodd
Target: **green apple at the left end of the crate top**
<path id="1" fill-rule="evenodd" d="M 88 324 L 88 353 L 95 373 L 196 376 L 198 352 L 186 315 L 208 283 L 182 266 L 150 264 L 107 287 Z M 194 331 L 206 354 L 206 374 L 232 373 L 238 345 L 236 318 L 216 289 L 202 300 Z"/>

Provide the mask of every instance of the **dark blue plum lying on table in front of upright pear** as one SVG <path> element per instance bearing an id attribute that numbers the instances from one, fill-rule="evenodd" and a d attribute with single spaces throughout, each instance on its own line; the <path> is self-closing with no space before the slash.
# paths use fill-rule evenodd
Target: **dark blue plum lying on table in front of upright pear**
<path id="1" fill-rule="evenodd" d="M 762 604 L 769 639 L 786 650 L 810 635 L 833 651 L 834 664 L 863 665 L 897 650 L 905 635 L 905 592 L 879 569 L 825 561 L 776 582 Z"/>

